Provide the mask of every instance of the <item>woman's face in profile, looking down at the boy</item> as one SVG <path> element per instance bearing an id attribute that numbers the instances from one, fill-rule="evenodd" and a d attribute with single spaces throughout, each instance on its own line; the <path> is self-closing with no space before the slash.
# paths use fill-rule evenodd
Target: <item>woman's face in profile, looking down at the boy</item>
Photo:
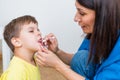
<path id="1" fill-rule="evenodd" d="M 74 18 L 75 22 L 81 26 L 84 33 L 92 33 L 95 22 L 95 11 L 89 8 L 85 8 L 80 5 L 77 1 L 75 3 L 77 12 Z"/>

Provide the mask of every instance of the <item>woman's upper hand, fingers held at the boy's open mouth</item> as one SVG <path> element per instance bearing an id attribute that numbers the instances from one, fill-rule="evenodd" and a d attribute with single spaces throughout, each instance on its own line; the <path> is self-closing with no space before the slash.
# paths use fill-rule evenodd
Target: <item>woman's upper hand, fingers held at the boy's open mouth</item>
<path id="1" fill-rule="evenodd" d="M 57 51 L 59 51 L 58 41 L 57 41 L 57 38 L 55 37 L 55 35 L 53 33 L 50 33 L 50 34 L 46 35 L 44 37 L 44 39 L 47 42 L 47 46 L 48 46 L 49 50 L 51 50 L 54 53 L 57 53 Z"/>

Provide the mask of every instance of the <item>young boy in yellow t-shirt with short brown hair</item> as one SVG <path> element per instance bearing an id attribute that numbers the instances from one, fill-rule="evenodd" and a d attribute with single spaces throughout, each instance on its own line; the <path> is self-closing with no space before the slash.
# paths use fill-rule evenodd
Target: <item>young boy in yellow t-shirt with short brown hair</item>
<path id="1" fill-rule="evenodd" d="M 3 35 L 14 56 L 1 80 L 40 80 L 34 54 L 40 49 L 42 37 L 36 19 L 18 17 L 5 26 Z"/>

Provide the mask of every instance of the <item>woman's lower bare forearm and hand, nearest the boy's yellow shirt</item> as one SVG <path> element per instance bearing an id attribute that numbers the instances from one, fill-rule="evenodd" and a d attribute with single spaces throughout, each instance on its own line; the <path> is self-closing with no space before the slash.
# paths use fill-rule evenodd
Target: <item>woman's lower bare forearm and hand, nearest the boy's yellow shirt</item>
<path id="1" fill-rule="evenodd" d="M 85 78 L 70 69 L 61 61 L 56 54 L 47 49 L 38 51 L 36 61 L 41 66 L 48 66 L 56 69 L 68 80 L 85 80 Z"/>

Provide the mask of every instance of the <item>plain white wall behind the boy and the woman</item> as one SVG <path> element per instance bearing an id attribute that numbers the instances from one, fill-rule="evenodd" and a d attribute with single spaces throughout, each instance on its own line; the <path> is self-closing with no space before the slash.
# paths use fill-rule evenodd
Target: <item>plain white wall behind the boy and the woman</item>
<path id="1" fill-rule="evenodd" d="M 75 11 L 75 0 L 0 0 L 0 32 L 13 18 L 32 15 L 43 35 L 54 33 L 60 48 L 76 52 L 82 31 L 73 20 Z"/>

